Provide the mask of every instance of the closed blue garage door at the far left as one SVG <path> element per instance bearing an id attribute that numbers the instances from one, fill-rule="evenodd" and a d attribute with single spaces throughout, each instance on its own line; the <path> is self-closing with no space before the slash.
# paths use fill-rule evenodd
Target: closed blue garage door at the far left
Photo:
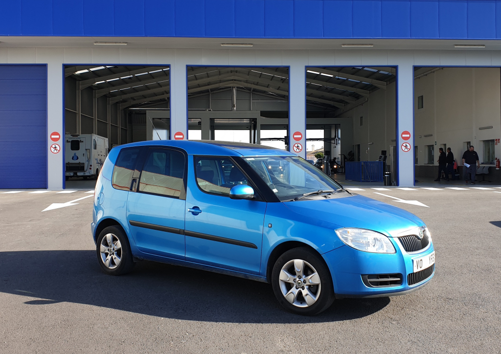
<path id="1" fill-rule="evenodd" d="M 0 189 L 47 188 L 47 66 L 0 65 Z"/>

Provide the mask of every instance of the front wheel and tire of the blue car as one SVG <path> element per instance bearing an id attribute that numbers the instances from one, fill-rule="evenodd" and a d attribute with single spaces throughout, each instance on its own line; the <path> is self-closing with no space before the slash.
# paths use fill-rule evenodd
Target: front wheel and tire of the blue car
<path id="1" fill-rule="evenodd" d="M 299 276 L 315 285 L 303 284 Z M 302 286 L 298 287 L 297 281 L 301 281 Z M 325 311 L 334 301 L 329 268 L 323 258 L 308 247 L 293 248 L 277 259 L 272 271 L 272 287 L 286 310 L 304 316 Z"/>

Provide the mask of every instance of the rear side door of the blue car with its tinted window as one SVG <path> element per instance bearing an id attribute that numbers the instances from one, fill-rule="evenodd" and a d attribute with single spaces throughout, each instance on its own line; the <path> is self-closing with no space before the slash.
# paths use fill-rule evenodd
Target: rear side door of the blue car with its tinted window
<path id="1" fill-rule="evenodd" d="M 127 221 L 140 251 L 184 259 L 185 169 L 186 154 L 180 150 L 145 153 L 127 200 Z"/>

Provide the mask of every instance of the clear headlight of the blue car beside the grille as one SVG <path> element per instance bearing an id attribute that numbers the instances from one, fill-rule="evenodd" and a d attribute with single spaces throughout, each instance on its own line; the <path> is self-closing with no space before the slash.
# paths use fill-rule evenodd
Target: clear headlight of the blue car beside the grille
<path id="1" fill-rule="evenodd" d="M 336 234 L 348 246 L 364 252 L 395 253 L 395 247 L 385 235 L 366 229 L 337 229 Z"/>

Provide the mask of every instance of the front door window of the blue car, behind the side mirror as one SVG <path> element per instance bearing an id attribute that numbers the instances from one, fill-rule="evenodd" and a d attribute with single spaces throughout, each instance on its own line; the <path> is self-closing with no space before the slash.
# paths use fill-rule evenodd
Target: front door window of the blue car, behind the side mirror
<path id="1" fill-rule="evenodd" d="M 207 193 L 229 196 L 231 187 L 247 184 L 243 172 L 229 158 L 195 157 L 198 187 Z"/>

